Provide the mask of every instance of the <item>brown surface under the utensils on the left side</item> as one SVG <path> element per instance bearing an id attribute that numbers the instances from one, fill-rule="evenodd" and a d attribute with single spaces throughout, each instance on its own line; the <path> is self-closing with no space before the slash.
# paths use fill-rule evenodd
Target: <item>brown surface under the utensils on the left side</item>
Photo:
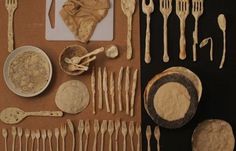
<path id="1" fill-rule="evenodd" d="M 25 111 L 40 111 L 40 110 L 58 110 L 54 103 L 55 94 L 57 88 L 63 82 L 71 79 L 78 79 L 86 83 L 90 89 L 90 72 L 77 77 L 71 77 L 63 73 L 58 65 L 58 57 L 64 47 L 71 44 L 80 44 L 79 42 L 51 42 L 45 40 L 45 0 L 18 0 L 19 5 L 15 13 L 15 47 L 24 45 L 33 45 L 44 50 L 53 64 L 53 78 L 50 86 L 39 96 L 33 98 L 22 98 L 13 94 L 6 86 L 2 70 L 0 70 L 0 110 L 9 107 L 16 106 Z M 95 66 L 106 66 L 108 71 L 115 71 L 115 77 L 117 78 L 118 71 L 121 66 L 131 66 L 132 72 L 134 68 L 140 68 L 140 36 L 139 36 L 139 9 L 137 7 L 134 16 L 134 59 L 132 61 L 126 60 L 126 17 L 123 15 L 120 7 L 120 1 L 115 0 L 115 28 L 114 28 L 114 40 L 112 42 L 90 42 L 89 44 L 83 44 L 89 51 L 108 44 L 117 44 L 120 48 L 120 57 L 116 60 L 109 60 L 99 55 L 98 60 L 95 62 Z M 5 1 L 0 1 L 0 67 L 3 68 L 4 61 L 8 56 L 7 51 L 7 11 L 5 9 Z M 104 31 L 105 32 L 105 31 Z M 139 76 L 140 77 L 140 76 Z M 140 81 L 140 80 L 139 80 Z M 22 123 L 16 125 L 22 128 L 29 129 L 53 129 L 60 127 L 61 124 L 65 123 L 66 119 L 72 119 L 78 124 L 79 119 L 122 119 L 126 121 L 134 120 L 140 122 L 141 120 L 141 88 L 140 82 L 138 84 L 136 103 L 135 103 L 135 117 L 130 118 L 125 115 L 124 112 L 115 115 L 108 114 L 105 106 L 104 110 L 98 111 L 97 115 L 92 114 L 92 104 L 90 103 L 87 109 L 78 115 L 65 114 L 63 118 L 27 118 Z M 117 105 L 118 107 L 118 105 Z M 92 125 L 92 123 L 91 123 Z M 0 128 L 8 128 L 11 126 L 5 125 L 0 122 Z M 91 127 L 92 128 L 92 127 Z M 91 137 L 89 142 L 89 150 L 93 144 L 93 128 L 91 129 Z M 78 134 L 78 133 L 77 133 Z M 9 135 L 9 149 L 11 145 L 11 135 Z M 78 136 L 78 135 L 77 135 Z M 120 135 L 120 142 L 122 143 L 122 135 Z M 67 150 L 70 150 L 70 132 L 68 130 L 67 136 Z M 100 139 L 100 137 L 99 137 Z M 108 134 L 106 135 L 105 150 L 108 150 Z M 24 139 L 23 139 L 24 142 Z M 128 141 L 129 142 L 129 141 Z M 53 140 L 55 146 L 55 140 Z M 78 141 L 77 141 L 78 144 Z M 99 141 L 98 141 L 99 144 Z M 130 143 L 127 143 L 128 146 Z M 0 150 L 4 148 L 3 138 L 0 137 Z M 77 145 L 78 147 L 78 145 Z M 99 145 L 98 145 L 99 147 Z"/>

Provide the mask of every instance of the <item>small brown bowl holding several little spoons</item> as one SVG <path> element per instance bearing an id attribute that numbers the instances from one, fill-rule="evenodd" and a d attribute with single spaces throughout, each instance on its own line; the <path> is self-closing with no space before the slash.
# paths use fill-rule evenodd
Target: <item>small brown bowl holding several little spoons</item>
<path id="1" fill-rule="evenodd" d="M 88 53 L 88 50 L 80 45 L 71 45 L 67 46 L 63 49 L 59 56 L 59 65 L 63 72 L 68 75 L 77 76 L 81 75 L 85 71 L 83 70 L 71 70 L 72 64 L 68 64 L 65 62 L 65 58 L 71 59 L 73 57 L 81 57 Z M 84 61 L 88 60 L 89 58 L 84 59 Z M 84 64 L 84 66 L 88 67 L 89 63 Z"/>

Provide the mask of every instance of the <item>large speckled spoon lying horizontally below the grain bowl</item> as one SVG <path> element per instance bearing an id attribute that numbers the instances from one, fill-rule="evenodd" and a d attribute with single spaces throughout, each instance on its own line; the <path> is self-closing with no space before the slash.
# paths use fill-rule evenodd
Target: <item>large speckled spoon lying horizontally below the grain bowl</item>
<path id="1" fill-rule="evenodd" d="M 0 120 L 6 124 L 17 124 L 28 116 L 54 116 L 61 117 L 63 112 L 61 111 L 39 111 L 39 112 L 24 112 L 16 107 L 9 107 L 0 113 Z"/>

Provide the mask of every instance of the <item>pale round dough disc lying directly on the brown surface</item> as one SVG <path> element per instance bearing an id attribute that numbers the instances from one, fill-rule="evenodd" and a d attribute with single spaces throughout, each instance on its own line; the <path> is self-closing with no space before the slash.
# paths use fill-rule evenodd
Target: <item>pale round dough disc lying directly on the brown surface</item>
<path id="1" fill-rule="evenodd" d="M 70 114 L 82 112 L 89 104 L 88 88 L 81 81 L 67 81 L 59 87 L 55 102 L 63 112 Z"/>

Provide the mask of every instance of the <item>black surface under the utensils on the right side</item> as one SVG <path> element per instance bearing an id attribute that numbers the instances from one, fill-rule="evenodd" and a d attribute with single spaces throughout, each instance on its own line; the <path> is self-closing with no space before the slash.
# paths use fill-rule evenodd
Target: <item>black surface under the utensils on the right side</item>
<path id="1" fill-rule="evenodd" d="M 191 2 L 191 1 L 190 1 Z M 146 65 L 142 59 L 142 92 L 147 82 L 157 73 L 172 67 L 184 66 L 194 71 L 203 84 L 203 95 L 199 104 L 196 116 L 183 128 L 168 130 L 161 128 L 161 150 L 163 151 L 190 151 L 191 136 L 194 128 L 199 122 L 206 119 L 217 118 L 228 121 L 236 130 L 236 11 L 234 0 L 205 0 L 205 10 L 199 20 L 199 42 L 202 39 L 212 36 L 214 40 L 214 62 L 210 62 L 209 45 L 203 49 L 198 49 L 198 61 L 192 61 L 192 32 L 194 30 L 194 18 L 189 15 L 186 24 L 187 36 L 187 59 L 178 59 L 179 52 L 179 19 L 175 14 L 175 1 L 173 1 L 173 12 L 168 22 L 168 42 L 170 62 L 162 62 L 163 41 L 162 26 L 163 19 L 159 11 L 159 0 L 154 0 L 155 12 L 151 21 L 151 52 L 153 61 Z M 191 9 L 190 9 L 191 10 Z M 219 70 L 222 56 L 222 32 L 217 24 L 217 17 L 224 13 L 227 18 L 227 54 L 223 70 Z M 141 45 L 144 56 L 144 34 L 145 15 L 141 15 Z M 146 125 L 151 124 L 154 129 L 155 123 L 142 108 L 143 130 Z M 145 134 L 143 132 L 143 134 Z M 156 149 L 156 141 L 152 138 L 153 150 Z M 146 150 L 146 139 L 143 137 L 143 150 Z"/>

